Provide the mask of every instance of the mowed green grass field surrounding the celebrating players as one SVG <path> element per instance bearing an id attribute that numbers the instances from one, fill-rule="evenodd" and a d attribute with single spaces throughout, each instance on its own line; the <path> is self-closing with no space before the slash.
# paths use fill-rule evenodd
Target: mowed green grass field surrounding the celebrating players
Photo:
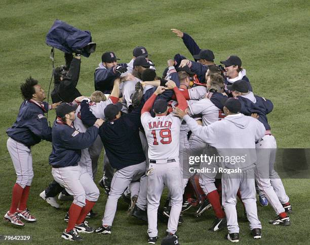
<path id="1" fill-rule="evenodd" d="M 16 180 L 13 164 L 6 147 L 7 128 L 16 119 L 22 102 L 19 85 L 31 75 L 39 80 L 46 92 L 52 73 L 50 48 L 45 36 L 55 19 L 75 27 L 90 30 L 97 43 L 96 53 L 82 58 L 78 89 L 88 96 L 94 89 L 94 69 L 104 51 L 114 51 L 128 62 L 135 46 L 143 45 L 151 54 L 161 75 L 166 61 L 176 53 L 190 54 L 182 40 L 170 31 L 177 28 L 195 38 L 201 48 L 214 51 L 216 63 L 229 55 L 241 57 L 253 91 L 274 102 L 269 115 L 272 132 L 279 148 L 310 148 L 310 52 L 308 19 L 310 5 L 306 1 L 17 1 L 2 0 L 0 27 L 0 215 L 5 215 L 11 203 L 11 191 Z M 56 65 L 63 64 L 63 53 L 56 51 Z M 53 85 L 52 85 L 53 87 Z M 49 113 L 52 122 L 54 111 Z M 28 207 L 37 222 L 16 228 L 0 222 L 0 235 L 31 235 L 32 243 L 62 243 L 61 232 L 66 227 L 63 217 L 70 206 L 64 202 L 60 210 L 47 205 L 38 194 L 52 181 L 48 156 L 51 144 L 42 142 L 32 147 L 34 179 Z M 292 165 L 294 162 L 292 162 Z M 102 176 L 100 165 L 97 180 Z M 289 227 L 272 227 L 267 222 L 274 217 L 270 206 L 258 206 L 263 225 L 263 237 L 253 241 L 243 210 L 238 204 L 241 243 L 308 243 L 309 179 L 284 179 L 294 214 Z M 101 194 L 94 211 L 98 217 L 90 220 L 100 225 L 106 202 Z M 147 225 L 126 216 L 127 205 L 120 200 L 112 234 L 83 235 L 84 242 L 96 244 L 143 244 Z M 184 215 L 179 226 L 181 244 L 221 244 L 225 231 L 208 232 L 213 221 L 209 211 L 200 218 L 194 211 Z M 159 236 L 166 225 L 159 223 Z"/>

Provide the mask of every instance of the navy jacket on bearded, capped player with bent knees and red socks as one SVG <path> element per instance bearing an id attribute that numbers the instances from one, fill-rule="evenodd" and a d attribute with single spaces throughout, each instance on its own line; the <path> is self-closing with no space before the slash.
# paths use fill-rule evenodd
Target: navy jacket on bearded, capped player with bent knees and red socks
<path id="1" fill-rule="evenodd" d="M 64 124 L 57 119 L 52 129 L 53 149 L 49 163 L 53 168 L 77 166 L 81 159 L 81 150 L 90 147 L 98 136 L 96 126 L 89 127 L 85 133 Z"/>

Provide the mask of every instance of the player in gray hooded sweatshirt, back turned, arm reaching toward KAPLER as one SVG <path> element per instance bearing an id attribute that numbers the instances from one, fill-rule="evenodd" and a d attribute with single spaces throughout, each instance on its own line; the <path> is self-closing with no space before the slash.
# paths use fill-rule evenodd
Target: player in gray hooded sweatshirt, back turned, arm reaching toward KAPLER
<path id="1" fill-rule="evenodd" d="M 240 188 L 250 229 L 254 239 L 261 238 L 261 223 L 257 217 L 254 164 L 256 162 L 255 142 L 264 136 L 265 128 L 257 119 L 240 113 L 241 103 L 234 98 L 226 100 L 223 107 L 226 117 L 209 126 L 199 126 L 186 112 L 176 108 L 175 113 L 183 118 L 192 133 L 215 147 L 220 156 L 222 172 L 222 203 L 227 217 L 227 239 L 239 241 L 237 222 L 237 191 Z M 245 157 L 244 161 L 232 162 L 232 157 Z M 224 158 L 223 158 L 224 159 Z M 229 170 L 229 172 L 228 172 Z M 230 172 L 231 171 L 231 172 Z"/>

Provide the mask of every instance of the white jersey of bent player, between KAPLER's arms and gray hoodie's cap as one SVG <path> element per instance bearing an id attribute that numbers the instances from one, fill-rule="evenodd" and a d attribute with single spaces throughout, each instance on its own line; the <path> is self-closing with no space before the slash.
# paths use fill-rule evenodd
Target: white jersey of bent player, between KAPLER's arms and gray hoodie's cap
<path id="1" fill-rule="evenodd" d="M 225 117 L 224 112 L 207 98 L 189 104 L 188 114 L 190 116 L 202 114 L 203 126 L 208 126 Z"/>

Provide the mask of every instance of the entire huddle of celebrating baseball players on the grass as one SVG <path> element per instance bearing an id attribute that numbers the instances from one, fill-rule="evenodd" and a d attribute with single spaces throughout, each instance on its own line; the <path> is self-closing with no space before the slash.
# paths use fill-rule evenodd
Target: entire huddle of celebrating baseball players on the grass
<path id="1" fill-rule="evenodd" d="M 216 65 L 211 50 L 200 49 L 186 33 L 172 31 L 193 60 L 176 54 L 163 77 L 156 74 L 146 48 L 137 46 L 128 63 L 118 64 L 114 52 L 103 53 L 90 98 L 76 89 L 79 50 L 74 58 L 65 54 L 66 66 L 55 69 L 54 104 L 43 102 L 45 93 L 36 80 L 26 79 L 21 85 L 24 102 L 7 130 L 17 180 L 5 220 L 18 226 L 25 225 L 21 219 L 36 221 L 27 208 L 33 178 L 30 147 L 43 139 L 52 142 L 47 160 L 54 181 L 40 196 L 55 208 L 59 193 L 59 198 L 73 200 L 61 235 L 66 240 L 82 240 L 80 233 L 111 234 L 120 197 L 129 205 L 128 216 L 147 223 L 145 240 L 151 244 L 163 236 L 158 219 L 168 224 L 162 244 L 178 244 L 178 224 L 192 207 L 197 207 L 197 217 L 212 207 L 215 219 L 208 232 L 227 228 L 226 238 L 238 242 L 237 196 L 252 237 L 259 239 L 256 192 L 260 205 L 270 203 L 276 212 L 271 225 L 291 224 L 289 197 L 274 169 L 277 144 L 267 120 L 273 103 L 253 94 L 238 56 L 221 61 L 224 67 Z M 57 118 L 50 128 L 44 114 L 55 108 Z M 102 223 L 93 229 L 86 218 L 95 215 L 99 189 L 93 179 L 103 148 L 99 185 L 107 201 Z M 199 157 L 203 155 L 209 157 Z M 197 160 L 191 166 L 189 159 Z M 206 171 L 191 174 L 190 168 Z M 165 187 L 169 194 L 160 207 Z"/>

